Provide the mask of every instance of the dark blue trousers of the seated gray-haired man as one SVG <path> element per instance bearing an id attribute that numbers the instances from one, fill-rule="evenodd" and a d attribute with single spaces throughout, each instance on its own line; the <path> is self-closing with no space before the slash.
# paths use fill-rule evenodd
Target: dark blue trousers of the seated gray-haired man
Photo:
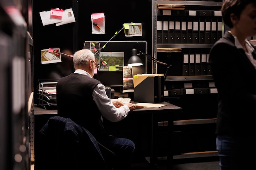
<path id="1" fill-rule="evenodd" d="M 129 169 L 135 152 L 135 144 L 130 139 L 107 135 L 104 137 L 103 145 L 116 154 L 114 170 Z"/>

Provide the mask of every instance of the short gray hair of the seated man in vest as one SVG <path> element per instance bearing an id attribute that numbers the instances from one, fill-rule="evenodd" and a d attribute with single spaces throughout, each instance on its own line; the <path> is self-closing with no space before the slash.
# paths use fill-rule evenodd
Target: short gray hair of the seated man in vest
<path id="1" fill-rule="evenodd" d="M 76 51 L 73 56 L 74 67 L 79 65 L 85 65 L 90 60 L 95 60 L 94 54 L 88 49 L 81 49 Z"/>

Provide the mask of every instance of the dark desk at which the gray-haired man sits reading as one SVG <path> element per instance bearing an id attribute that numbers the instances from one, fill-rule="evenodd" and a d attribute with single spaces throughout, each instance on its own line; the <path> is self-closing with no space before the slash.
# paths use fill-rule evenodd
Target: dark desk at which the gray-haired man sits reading
<path id="1" fill-rule="evenodd" d="M 153 166 L 157 165 L 157 127 L 158 122 L 161 121 L 159 117 L 167 117 L 168 120 L 168 170 L 173 169 L 173 114 L 182 111 L 182 108 L 170 104 L 168 102 L 162 102 L 158 104 L 166 104 L 166 106 L 162 106 L 160 108 L 138 108 L 134 110 L 131 115 L 132 118 L 136 117 L 137 114 L 141 117 L 150 117 L 151 124 L 151 133 L 150 133 L 150 164 Z M 39 127 L 46 123 L 46 120 L 51 116 L 55 116 L 57 114 L 57 110 L 46 110 L 36 106 L 34 108 L 35 115 L 35 129 L 40 130 Z M 144 115 L 146 114 L 146 115 Z M 40 125 L 36 125 L 39 123 Z M 45 123 L 43 123 L 43 122 Z M 39 126 L 39 127 L 38 127 Z M 36 128 L 38 127 L 38 128 Z M 36 155 L 36 154 L 35 154 Z"/>

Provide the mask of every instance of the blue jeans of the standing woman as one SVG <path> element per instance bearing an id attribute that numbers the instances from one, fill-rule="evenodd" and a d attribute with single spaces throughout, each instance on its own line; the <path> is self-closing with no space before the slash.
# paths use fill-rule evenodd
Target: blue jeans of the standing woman
<path id="1" fill-rule="evenodd" d="M 255 146 L 253 137 L 217 135 L 220 170 L 256 170 Z"/>

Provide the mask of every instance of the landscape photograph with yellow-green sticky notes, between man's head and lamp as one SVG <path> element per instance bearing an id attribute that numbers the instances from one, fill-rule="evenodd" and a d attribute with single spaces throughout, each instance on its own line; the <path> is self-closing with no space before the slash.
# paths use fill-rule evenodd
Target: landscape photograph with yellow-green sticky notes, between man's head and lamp
<path id="1" fill-rule="evenodd" d="M 124 52 L 101 52 L 99 65 L 100 71 L 122 71 Z"/>

